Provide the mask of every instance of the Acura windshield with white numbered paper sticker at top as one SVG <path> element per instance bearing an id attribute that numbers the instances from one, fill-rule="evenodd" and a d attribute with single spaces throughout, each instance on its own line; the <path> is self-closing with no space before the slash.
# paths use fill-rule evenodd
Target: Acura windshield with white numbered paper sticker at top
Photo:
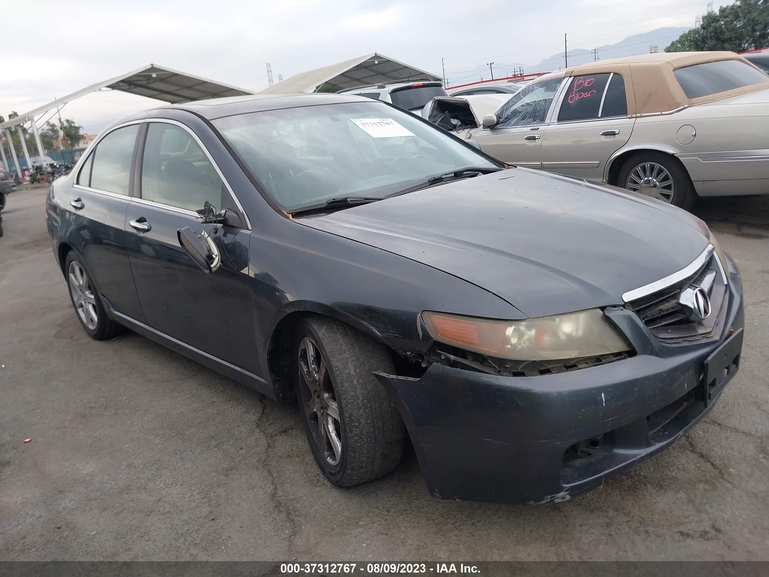
<path id="1" fill-rule="evenodd" d="M 498 168 L 380 102 L 266 110 L 213 121 L 286 212 L 331 198 L 383 198 L 460 168 Z"/>

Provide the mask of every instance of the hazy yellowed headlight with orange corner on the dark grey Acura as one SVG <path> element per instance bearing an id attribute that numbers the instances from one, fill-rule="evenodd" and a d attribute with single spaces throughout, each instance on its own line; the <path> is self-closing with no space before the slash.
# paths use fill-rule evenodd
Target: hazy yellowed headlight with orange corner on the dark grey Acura
<path id="1" fill-rule="evenodd" d="M 422 319 L 436 341 L 499 359 L 577 359 L 632 349 L 600 309 L 525 321 L 424 311 Z"/>

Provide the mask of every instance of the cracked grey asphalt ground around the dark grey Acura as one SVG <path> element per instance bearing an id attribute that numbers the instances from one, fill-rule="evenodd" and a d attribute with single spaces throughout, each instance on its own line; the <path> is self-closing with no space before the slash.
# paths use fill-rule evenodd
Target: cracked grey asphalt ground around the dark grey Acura
<path id="1" fill-rule="evenodd" d="M 694 208 L 744 282 L 742 366 L 714 410 L 600 490 L 532 507 L 434 499 L 413 452 L 336 489 L 295 407 L 133 333 L 92 341 L 45 193 L 2 214 L 0 559 L 769 559 L 769 196 Z"/>

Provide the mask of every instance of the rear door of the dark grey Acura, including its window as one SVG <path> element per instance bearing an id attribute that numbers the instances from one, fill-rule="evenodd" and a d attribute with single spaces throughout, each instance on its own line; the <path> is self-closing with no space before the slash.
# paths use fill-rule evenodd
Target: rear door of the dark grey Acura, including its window
<path id="1" fill-rule="evenodd" d="M 60 215 L 60 230 L 85 259 L 108 307 L 141 322 L 125 232 L 139 126 L 123 125 L 103 136 L 78 169 L 72 188 L 62 187 L 56 196 L 66 211 Z"/>

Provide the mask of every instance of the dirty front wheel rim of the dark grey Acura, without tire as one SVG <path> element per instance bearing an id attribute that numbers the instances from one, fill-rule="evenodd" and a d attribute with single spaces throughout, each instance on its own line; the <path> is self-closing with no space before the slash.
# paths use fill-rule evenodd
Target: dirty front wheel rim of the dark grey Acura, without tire
<path id="1" fill-rule="evenodd" d="M 318 345 L 305 336 L 299 342 L 301 403 L 318 449 L 331 466 L 341 462 L 341 417 L 334 385 Z"/>

